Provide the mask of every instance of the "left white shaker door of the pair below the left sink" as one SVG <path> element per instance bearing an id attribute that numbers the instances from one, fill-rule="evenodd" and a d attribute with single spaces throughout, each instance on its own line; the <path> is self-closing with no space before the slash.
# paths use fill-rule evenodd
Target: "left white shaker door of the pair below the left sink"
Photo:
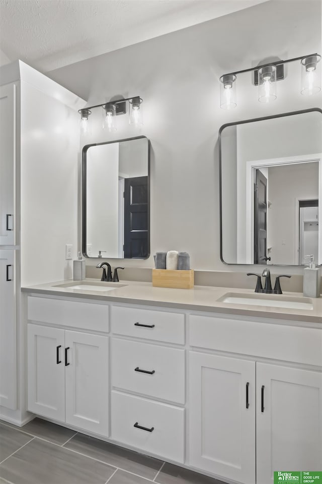
<path id="1" fill-rule="evenodd" d="M 64 330 L 28 324 L 28 410 L 65 421 Z"/>

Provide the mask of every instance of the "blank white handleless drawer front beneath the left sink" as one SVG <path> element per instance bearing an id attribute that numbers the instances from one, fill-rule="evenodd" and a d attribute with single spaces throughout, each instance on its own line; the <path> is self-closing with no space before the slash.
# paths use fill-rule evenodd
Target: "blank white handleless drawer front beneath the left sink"
<path id="1" fill-rule="evenodd" d="M 28 296 L 28 320 L 91 331 L 109 331 L 109 307 L 92 302 Z"/>

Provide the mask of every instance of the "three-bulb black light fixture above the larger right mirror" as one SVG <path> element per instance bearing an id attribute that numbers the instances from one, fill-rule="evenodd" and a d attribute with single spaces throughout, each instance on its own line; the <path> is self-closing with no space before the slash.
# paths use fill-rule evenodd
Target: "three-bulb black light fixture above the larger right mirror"
<path id="1" fill-rule="evenodd" d="M 284 64 L 295 61 L 301 62 L 301 94 L 307 96 L 315 94 L 321 90 L 320 60 L 321 56 L 315 53 L 224 74 L 219 78 L 220 107 L 231 109 L 237 105 L 235 89 L 237 74 L 252 71 L 254 72 L 254 84 L 258 86 L 258 100 L 265 103 L 274 101 L 277 98 L 276 81 L 284 79 Z"/>

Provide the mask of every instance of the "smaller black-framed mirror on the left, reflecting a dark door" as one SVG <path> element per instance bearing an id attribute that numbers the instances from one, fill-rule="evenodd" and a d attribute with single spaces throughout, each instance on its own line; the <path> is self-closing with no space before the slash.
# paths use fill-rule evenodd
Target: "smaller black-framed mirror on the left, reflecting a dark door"
<path id="1" fill-rule="evenodd" d="M 83 148 L 83 254 L 146 259 L 150 253 L 149 140 Z"/>

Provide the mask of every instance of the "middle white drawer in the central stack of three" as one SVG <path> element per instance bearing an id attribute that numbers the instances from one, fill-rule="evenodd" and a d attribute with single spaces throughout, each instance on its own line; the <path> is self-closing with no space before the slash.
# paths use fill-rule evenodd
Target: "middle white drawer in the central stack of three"
<path id="1" fill-rule="evenodd" d="M 124 390 L 185 403 L 185 350 L 113 338 L 112 383 Z"/>

